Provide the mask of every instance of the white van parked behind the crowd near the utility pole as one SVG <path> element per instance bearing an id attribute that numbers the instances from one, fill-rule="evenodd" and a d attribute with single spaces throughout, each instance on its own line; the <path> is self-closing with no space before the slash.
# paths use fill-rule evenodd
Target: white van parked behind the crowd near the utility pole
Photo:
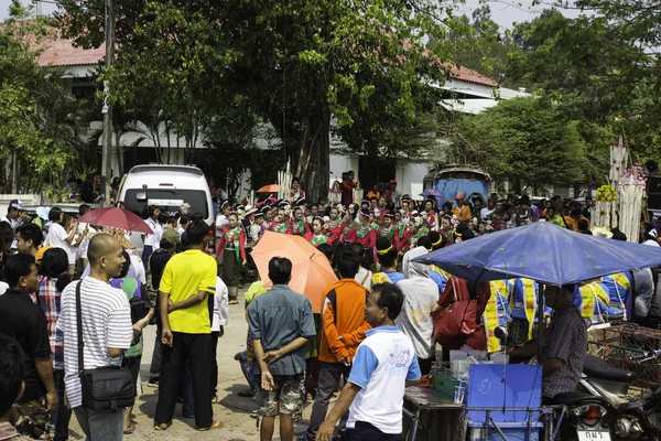
<path id="1" fill-rule="evenodd" d="M 188 203 L 191 213 L 202 215 L 207 225 L 215 220 L 209 185 L 196 166 L 136 165 L 123 179 L 118 201 L 138 214 L 142 214 L 149 205 L 174 213 L 182 204 Z"/>

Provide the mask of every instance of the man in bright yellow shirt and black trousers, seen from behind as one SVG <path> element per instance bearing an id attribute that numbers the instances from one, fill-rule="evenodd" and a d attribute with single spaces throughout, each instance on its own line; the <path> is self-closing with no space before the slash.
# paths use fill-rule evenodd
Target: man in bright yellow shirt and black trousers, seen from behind
<path id="1" fill-rule="evenodd" d="M 199 430 L 223 427 L 212 409 L 210 368 L 212 324 L 209 300 L 216 292 L 216 259 L 205 252 L 209 227 L 204 220 L 191 223 L 186 229 L 189 248 L 173 256 L 165 265 L 159 287 L 163 356 L 159 379 L 159 401 L 154 428 L 166 430 L 172 424 L 182 369 L 191 364 L 195 424 Z"/>

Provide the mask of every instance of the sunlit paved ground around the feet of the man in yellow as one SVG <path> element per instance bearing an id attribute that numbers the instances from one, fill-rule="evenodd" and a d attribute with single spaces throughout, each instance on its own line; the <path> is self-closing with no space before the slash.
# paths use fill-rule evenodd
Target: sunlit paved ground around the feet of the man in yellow
<path id="1" fill-rule="evenodd" d="M 242 291 L 243 292 L 243 291 Z M 174 421 L 166 431 L 153 429 L 153 417 L 156 406 L 158 389 L 147 386 L 149 367 L 155 337 L 155 326 L 149 326 L 144 332 L 144 354 L 142 356 L 141 376 L 143 379 L 143 394 L 138 397 L 133 408 L 136 432 L 124 435 L 130 440 L 224 440 L 249 441 L 259 440 L 257 421 L 250 418 L 250 411 L 257 408 L 251 398 L 241 398 L 238 391 L 247 389 L 246 379 L 241 374 L 238 362 L 234 359 L 237 352 L 246 348 L 247 323 L 243 318 L 243 297 L 239 294 L 239 304 L 230 305 L 229 323 L 225 327 L 225 336 L 218 341 L 218 404 L 214 405 L 214 418 L 226 423 L 225 428 L 208 432 L 195 430 L 195 420 L 184 418 L 181 405 L 174 413 Z M 303 420 L 296 423 L 295 432 L 302 433 L 307 427 L 311 404 L 303 412 Z M 278 428 L 278 422 L 275 423 Z M 278 431 L 278 429 L 277 429 Z M 71 435 L 77 440 L 84 439 L 83 431 L 72 418 Z M 278 434 L 278 433 L 277 433 Z M 279 439 L 278 435 L 274 439 Z"/>

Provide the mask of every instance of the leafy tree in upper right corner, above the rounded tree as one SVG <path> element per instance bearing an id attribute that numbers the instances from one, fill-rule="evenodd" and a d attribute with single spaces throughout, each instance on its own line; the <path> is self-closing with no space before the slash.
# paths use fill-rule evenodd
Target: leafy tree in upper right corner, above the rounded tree
<path id="1" fill-rule="evenodd" d="M 586 142 L 586 183 L 605 182 L 609 143 L 625 131 L 643 157 L 661 153 L 655 115 L 657 77 L 651 55 L 633 40 L 620 39 L 625 23 L 606 15 L 563 17 L 543 11 L 512 32 L 518 51 L 509 54 L 509 77 L 531 85 L 542 99 L 554 103 L 577 121 Z M 617 122 L 618 117 L 640 115 Z"/>

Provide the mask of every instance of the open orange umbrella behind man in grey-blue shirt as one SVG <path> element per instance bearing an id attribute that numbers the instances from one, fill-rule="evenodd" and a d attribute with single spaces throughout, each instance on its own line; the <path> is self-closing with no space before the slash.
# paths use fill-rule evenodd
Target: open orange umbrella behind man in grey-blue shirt
<path id="1" fill-rule="evenodd" d="M 273 257 L 286 257 L 292 261 L 290 288 L 305 294 L 312 303 L 312 311 L 321 313 L 326 289 L 337 282 L 326 256 L 301 236 L 266 232 L 252 250 L 254 265 L 266 287 L 272 284 L 269 261 Z"/>

